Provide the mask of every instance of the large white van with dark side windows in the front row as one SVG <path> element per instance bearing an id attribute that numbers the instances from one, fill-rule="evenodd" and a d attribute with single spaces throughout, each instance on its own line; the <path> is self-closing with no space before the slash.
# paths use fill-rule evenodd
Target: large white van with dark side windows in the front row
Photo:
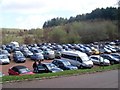
<path id="1" fill-rule="evenodd" d="M 79 51 L 64 51 L 62 52 L 61 58 L 68 60 L 72 65 L 78 68 L 92 68 L 93 62 L 89 60 L 86 53 Z"/>

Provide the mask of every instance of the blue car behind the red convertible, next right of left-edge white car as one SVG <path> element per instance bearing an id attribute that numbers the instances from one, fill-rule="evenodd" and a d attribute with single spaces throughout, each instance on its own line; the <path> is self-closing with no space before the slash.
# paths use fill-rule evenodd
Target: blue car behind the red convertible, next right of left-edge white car
<path id="1" fill-rule="evenodd" d="M 13 60 L 18 63 L 18 62 L 22 62 L 24 63 L 26 61 L 25 56 L 23 55 L 22 52 L 20 51 L 15 51 L 15 53 L 13 54 Z"/>

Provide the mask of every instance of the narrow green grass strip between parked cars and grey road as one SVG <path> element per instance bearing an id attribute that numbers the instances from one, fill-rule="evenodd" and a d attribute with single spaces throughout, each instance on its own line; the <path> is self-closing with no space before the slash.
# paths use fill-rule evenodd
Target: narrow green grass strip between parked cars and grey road
<path id="1" fill-rule="evenodd" d="M 80 74 L 95 73 L 95 72 L 102 72 L 102 71 L 115 70 L 115 69 L 120 69 L 120 64 L 104 66 L 104 67 L 101 66 L 92 69 L 66 70 L 57 73 L 43 73 L 43 74 L 23 75 L 23 76 L 3 76 L 2 83 L 10 82 L 10 81 L 23 81 L 23 80 L 54 78 L 59 76 L 80 75 Z"/>

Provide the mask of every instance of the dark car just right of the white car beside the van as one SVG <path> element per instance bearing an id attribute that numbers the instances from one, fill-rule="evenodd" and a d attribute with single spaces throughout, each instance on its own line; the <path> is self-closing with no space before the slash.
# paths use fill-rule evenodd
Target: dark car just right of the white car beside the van
<path id="1" fill-rule="evenodd" d="M 110 61 L 110 64 L 113 65 L 113 64 L 117 64 L 120 62 L 120 60 L 118 58 L 115 58 L 113 57 L 112 55 L 110 54 L 101 54 L 101 56 L 104 58 L 104 59 L 108 59 Z"/>

